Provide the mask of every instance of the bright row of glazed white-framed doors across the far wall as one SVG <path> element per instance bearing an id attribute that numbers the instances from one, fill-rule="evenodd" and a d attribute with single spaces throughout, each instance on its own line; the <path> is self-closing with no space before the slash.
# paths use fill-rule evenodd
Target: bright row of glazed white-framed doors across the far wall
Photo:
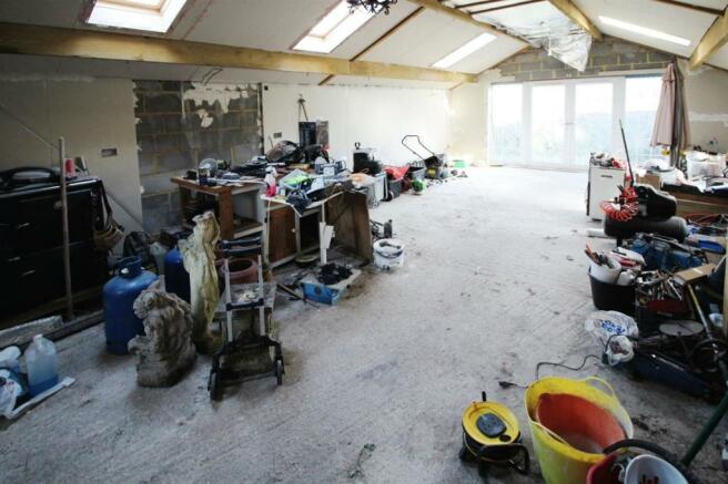
<path id="1" fill-rule="evenodd" d="M 586 167 L 594 152 L 624 157 L 620 119 L 633 161 L 655 156 L 649 141 L 660 87 L 658 75 L 494 84 L 491 162 Z"/>

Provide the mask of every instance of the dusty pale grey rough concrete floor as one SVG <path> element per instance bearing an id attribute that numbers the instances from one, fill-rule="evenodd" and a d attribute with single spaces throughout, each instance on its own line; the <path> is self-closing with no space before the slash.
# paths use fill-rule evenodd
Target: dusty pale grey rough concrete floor
<path id="1" fill-rule="evenodd" d="M 523 390 L 497 381 L 527 383 L 538 361 L 596 352 L 583 329 L 594 309 L 585 229 L 596 226 L 585 184 L 585 174 L 473 169 L 373 210 L 394 219 L 406 267 L 367 274 L 335 308 L 279 299 L 282 388 L 257 381 L 211 404 L 206 358 L 176 387 L 150 390 L 136 387 L 131 358 L 104 352 L 102 327 L 63 340 L 61 370 L 77 383 L 0 432 L 0 481 L 478 482 L 457 459 L 465 405 L 487 390 L 525 425 Z M 678 453 L 711 410 L 594 362 L 543 373 L 607 379 L 645 424 L 636 435 Z M 706 482 L 725 482 L 726 422 L 719 430 L 695 463 Z M 540 482 L 535 467 L 492 482 Z"/>

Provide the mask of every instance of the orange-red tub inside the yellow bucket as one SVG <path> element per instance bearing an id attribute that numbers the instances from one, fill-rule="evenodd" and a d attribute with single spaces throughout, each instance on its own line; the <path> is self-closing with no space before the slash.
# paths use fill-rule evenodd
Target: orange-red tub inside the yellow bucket
<path id="1" fill-rule="evenodd" d="M 540 395 L 536 420 L 582 452 L 600 454 L 606 446 L 626 439 L 624 429 L 609 411 L 570 394 Z"/>

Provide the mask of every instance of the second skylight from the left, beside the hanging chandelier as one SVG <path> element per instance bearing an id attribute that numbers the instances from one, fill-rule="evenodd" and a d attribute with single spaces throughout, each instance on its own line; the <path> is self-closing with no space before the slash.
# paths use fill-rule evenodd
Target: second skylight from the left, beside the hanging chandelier
<path id="1" fill-rule="evenodd" d="M 360 27 L 365 24 L 373 13 L 357 8 L 351 11 L 348 2 L 343 0 L 318 21 L 294 47 L 297 51 L 330 53 L 345 41 Z"/>

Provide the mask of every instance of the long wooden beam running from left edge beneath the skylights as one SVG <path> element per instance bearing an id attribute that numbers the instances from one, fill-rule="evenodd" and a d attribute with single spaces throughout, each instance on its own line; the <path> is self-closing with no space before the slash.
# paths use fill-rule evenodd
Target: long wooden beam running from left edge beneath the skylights
<path id="1" fill-rule="evenodd" d="M 477 82 L 462 72 L 324 55 L 271 52 L 92 30 L 0 23 L 0 53 L 260 69 L 435 82 Z"/>

